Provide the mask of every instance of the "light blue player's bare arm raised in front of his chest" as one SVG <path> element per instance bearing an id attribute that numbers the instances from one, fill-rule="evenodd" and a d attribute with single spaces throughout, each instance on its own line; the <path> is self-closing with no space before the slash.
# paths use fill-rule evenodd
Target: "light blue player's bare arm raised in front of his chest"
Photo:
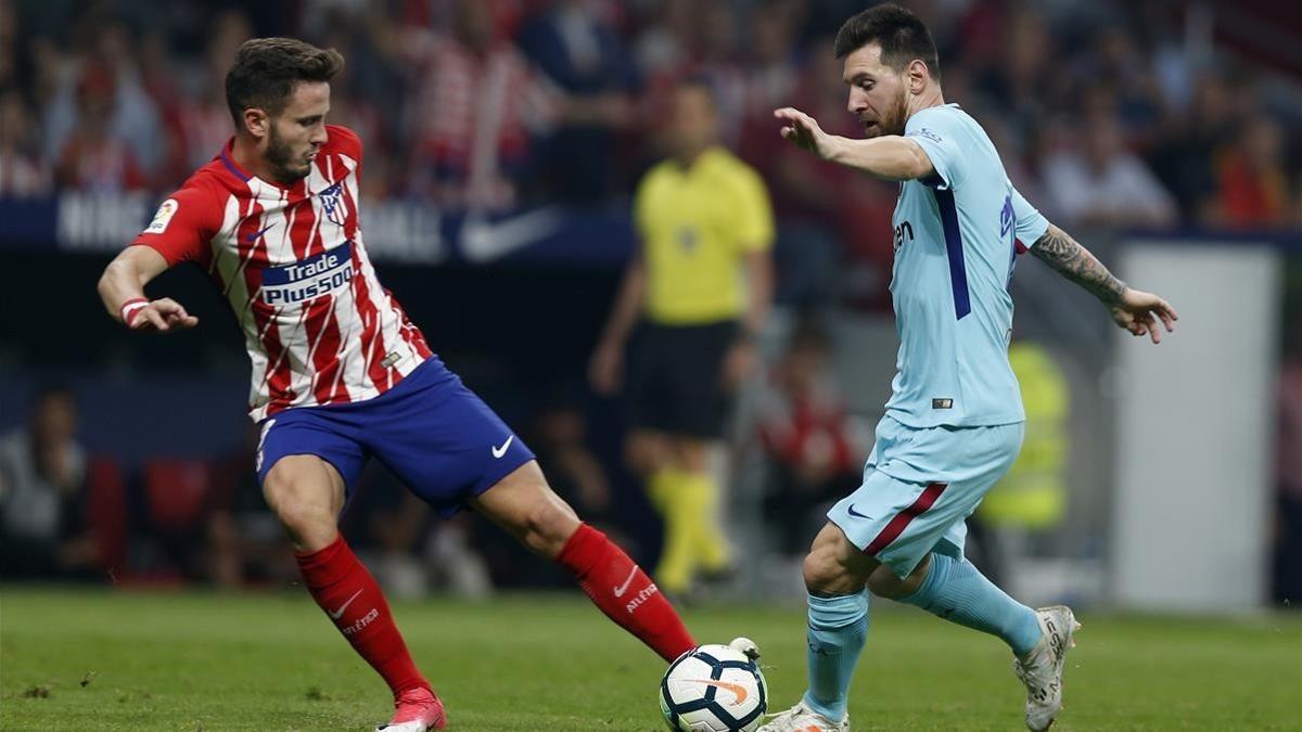
<path id="1" fill-rule="evenodd" d="M 793 107 L 775 109 L 773 116 L 783 122 L 783 138 L 796 147 L 875 178 L 910 181 L 936 172 L 922 146 L 906 137 L 888 134 L 850 139 L 827 134 L 818 120 Z"/>

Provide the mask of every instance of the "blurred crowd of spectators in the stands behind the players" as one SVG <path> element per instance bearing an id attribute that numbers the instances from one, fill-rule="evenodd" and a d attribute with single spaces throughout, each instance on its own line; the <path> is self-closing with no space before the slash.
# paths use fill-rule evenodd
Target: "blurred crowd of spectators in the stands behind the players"
<path id="1" fill-rule="evenodd" d="M 691 73 L 715 85 L 724 139 L 766 175 L 792 236 L 888 257 L 863 232 L 893 195 L 789 155 L 769 116 L 794 104 L 855 134 L 831 39 L 862 5 L 0 0 L 0 195 L 172 189 L 230 135 L 238 46 L 290 34 L 348 60 L 331 119 L 366 141 L 370 197 L 491 210 L 624 195 L 656 158 L 668 82 Z M 1203 48 L 1184 4 L 909 5 L 935 33 L 947 99 L 1056 220 L 1302 225 L 1298 79 Z"/>

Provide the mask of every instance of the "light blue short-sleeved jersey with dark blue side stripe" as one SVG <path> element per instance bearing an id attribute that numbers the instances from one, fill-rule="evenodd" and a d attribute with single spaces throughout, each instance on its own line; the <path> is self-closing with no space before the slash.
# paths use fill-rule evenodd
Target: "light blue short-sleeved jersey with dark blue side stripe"
<path id="1" fill-rule="evenodd" d="M 1016 242 L 1048 221 L 1013 189 L 986 130 L 957 104 L 909 117 L 936 176 L 904 181 L 891 294 L 900 335 L 887 414 L 909 427 L 1025 421 L 1008 365 Z"/>

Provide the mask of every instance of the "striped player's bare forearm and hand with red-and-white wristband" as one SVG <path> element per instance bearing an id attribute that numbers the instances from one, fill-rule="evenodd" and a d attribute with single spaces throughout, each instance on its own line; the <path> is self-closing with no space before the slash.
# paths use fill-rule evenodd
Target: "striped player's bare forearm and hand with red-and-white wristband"
<path id="1" fill-rule="evenodd" d="M 167 259 L 150 246 L 128 246 L 99 277 L 99 297 L 109 317 L 133 331 L 169 333 L 199 324 L 171 297 L 150 300 L 145 284 L 168 268 Z"/>

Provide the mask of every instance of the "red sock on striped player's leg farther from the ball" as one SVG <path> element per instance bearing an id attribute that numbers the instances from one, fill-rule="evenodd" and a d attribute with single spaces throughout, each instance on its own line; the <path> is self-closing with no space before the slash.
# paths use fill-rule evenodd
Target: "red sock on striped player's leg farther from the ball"
<path id="1" fill-rule="evenodd" d="M 384 677 L 395 696 L 418 686 L 430 688 L 393 624 L 384 593 L 342 535 L 320 551 L 296 557 L 316 604 L 353 643 L 353 650 Z"/>

